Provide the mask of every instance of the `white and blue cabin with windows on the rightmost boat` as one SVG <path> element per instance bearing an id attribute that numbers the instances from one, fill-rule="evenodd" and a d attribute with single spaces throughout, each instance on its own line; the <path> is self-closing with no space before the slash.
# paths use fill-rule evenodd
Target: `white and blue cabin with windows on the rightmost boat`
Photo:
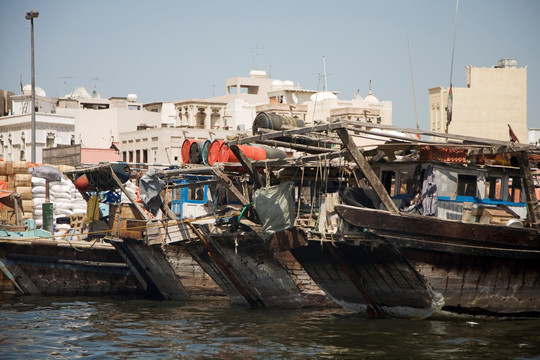
<path id="1" fill-rule="evenodd" d="M 422 191 L 428 167 L 432 169 L 438 200 L 436 216 L 441 219 L 462 220 L 464 206 L 466 210 L 504 206 L 522 219 L 527 215 L 518 167 L 410 161 L 379 163 L 374 166 L 374 171 L 398 207 L 403 208 L 410 205 L 418 187 Z"/>

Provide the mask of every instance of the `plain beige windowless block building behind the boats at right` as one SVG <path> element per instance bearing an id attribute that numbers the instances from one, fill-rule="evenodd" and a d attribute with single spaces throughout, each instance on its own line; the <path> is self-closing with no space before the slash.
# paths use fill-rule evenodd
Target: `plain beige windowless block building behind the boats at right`
<path id="1" fill-rule="evenodd" d="M 448 132 L 509 140 L 508 125 L 527 141 L 527 67 L 500 60 L 492 68 L 466 67 L 466 87 L 453 87 L 452 121 Z M 448 90 L 429 89 L 430 130 L 444 132 Z"/>

